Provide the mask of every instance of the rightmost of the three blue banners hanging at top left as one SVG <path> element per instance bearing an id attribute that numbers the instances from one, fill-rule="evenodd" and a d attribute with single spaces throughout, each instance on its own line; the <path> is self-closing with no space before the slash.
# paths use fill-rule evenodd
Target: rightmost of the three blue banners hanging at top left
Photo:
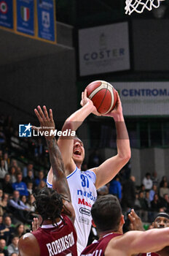
<path id="1" fill-rule="evenodd" d="M 55 42 L 55 11 L 53 0 L 37 0 L 38 37 Z"/>

